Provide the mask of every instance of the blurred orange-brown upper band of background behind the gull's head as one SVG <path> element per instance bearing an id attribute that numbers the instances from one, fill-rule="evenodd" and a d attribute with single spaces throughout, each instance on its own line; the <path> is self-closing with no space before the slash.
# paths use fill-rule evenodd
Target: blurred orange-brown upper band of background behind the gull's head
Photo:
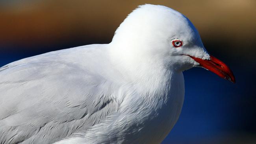
<path id="1" fill-rule="evenodd" d="M 215 50 L 244 54 L 247 59 L 255 54 L 256 0 L 4 0 L 0 2 L 0 44 L 26 50 L 73 39 L 80 44 L 108 43 L 124 18 L 145 3 L 186 15 L 203 42 L 221 44 Z"/>

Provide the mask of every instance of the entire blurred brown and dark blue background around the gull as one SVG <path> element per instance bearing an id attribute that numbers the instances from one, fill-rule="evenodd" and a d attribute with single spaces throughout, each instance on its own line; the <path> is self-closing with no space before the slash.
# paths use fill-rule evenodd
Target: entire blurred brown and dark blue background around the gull
<path id="1" fill-rule="evenodd" d="M 0 0 L 0 66 L 109 43 L 124 18 L 145 3 L 186 15 L 237 81 L 202 68 L 185 71 L 184 107 L 162 144 L 256 144 L 256 0 Z"/>

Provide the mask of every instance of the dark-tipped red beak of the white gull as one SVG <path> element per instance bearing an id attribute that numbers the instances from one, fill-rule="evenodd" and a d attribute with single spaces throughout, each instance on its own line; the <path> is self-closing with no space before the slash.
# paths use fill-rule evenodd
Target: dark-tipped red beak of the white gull
<path id="1" fill-rule="evenodd" d="M 190 56 L 190 55 L 189 55 Z M 200 64 L 200 66 L 204 67 L 207 70 L 210 70 L 211 72 L 217 74 L 221 78 L 227 79 L 229 81 L 232 81 L 233 83 L 236 83 L 235 76 L 233 72 L 228 68 L 226 64 L 224 64 L 222 61 L 217 59 L 216 57 L 213 57 L 210 55 L 210 60 L 208 59 L 200 59 L 197 57 L 190 56 L 192 59 L 194 59 L 197 63 Z"/>

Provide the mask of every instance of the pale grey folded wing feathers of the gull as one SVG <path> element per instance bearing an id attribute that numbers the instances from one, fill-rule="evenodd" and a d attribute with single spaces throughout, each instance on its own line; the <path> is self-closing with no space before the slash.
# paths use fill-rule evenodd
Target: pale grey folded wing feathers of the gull
<path id="1" fill-rule="evenodd" d="M 53 143 L 117 111 L 113 84 L 95 67 L 104 68 L 101 50 L 84 49 L 38 55 L 0 68 L 1 144 Z M 102 61 L 93 60 L 97 55 Z"/>

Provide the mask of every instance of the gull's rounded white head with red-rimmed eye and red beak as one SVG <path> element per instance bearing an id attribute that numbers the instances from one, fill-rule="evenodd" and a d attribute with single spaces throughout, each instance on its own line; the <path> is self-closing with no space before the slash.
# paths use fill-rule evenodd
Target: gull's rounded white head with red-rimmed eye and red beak
<path id="1" fill-rule="evenodd" d="M 235 82 L 230 68 L 208 54 L 191 21 L 169 7 L 139 6 L 116 30 L 111 44 L 128 63 L 153 61 L 176 71 L 203 67 Z"/>

